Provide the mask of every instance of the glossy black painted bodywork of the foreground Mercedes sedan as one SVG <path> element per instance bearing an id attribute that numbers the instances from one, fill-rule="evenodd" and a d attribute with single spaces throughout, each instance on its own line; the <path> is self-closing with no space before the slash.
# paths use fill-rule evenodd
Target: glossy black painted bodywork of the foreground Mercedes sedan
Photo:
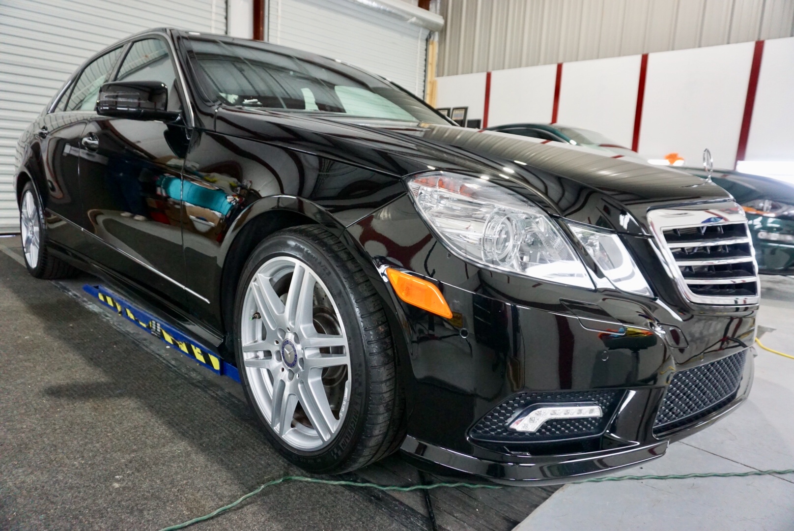
<path id="1" fill-rule="evenodd" d="M 229 362 L 232 297 L 249 252 L 283 227 L 328 227 L 384 300 L 406 391 L 403 451 L 422 466 L 559 483 L 651 459 L 667 445 L 651 428 L 674 372 L 752 345 L 757 307 L 684 300 L 647 224 L 653 207 L 727 200 L 715 184 L 491 131 L 220 106 L 198 90 L 186 33 L 152 30 L 124 44 L 152 37 L 174 46 L 179 120 L 44 112 L 21 139 L 17 191 L 36 184 L 56 252 L 90 264 Z M 495 273 L 449 254 L 403 184 L 429 169 L 487 175 L 555 218 L 618 231 L 657 298 Z M 437 282 L 453 319 L 397 299 L 383 266 Z M 751 380 L 749 356 L 735 403 L 687 430 L 741 402 Z M 605 388 L 626 398 L 595 440 L 506 448 L 468 438 L 518 391 Z M 570 454 L 592 459 L 576 465 Z"/>

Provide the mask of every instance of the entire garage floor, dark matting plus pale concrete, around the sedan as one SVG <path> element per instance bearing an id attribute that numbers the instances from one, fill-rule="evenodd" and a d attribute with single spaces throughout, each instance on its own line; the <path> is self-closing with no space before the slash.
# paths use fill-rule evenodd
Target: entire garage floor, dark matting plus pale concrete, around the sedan
<path id="1" fill-rule="evenodd" d="M 160 529 L 301 474 L 271 450 L 237 384 L 83 297 L 91 277 L 37 281 L 17 239 L 0 239 L 0 251 L 0 529 Z M 762 340 L 792 352 L 794 279 L 762 284 Z M 794 360 L 757 351 L 746 405 L 624 474 L 794 467 Z M 351 479 L 416 475 L 393 457 Z M 554 490 L 432 497 L 441 529 L 454 531 L 510 529 L 530 513 L 515 529 L 794 529 L 794 475 Z M 292 483 L 191 529 L 429 529 L 426 515 L 418 492 Z"/>

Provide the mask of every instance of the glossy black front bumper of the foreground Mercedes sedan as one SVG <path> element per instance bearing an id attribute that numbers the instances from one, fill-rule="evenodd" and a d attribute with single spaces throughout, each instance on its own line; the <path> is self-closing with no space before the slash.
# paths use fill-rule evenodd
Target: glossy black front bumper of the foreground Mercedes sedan
<path id="1" fill-rule="evenodd" d="M 626 240 L 646 269 L 654 300 L 479 269 L 448 253 L 407 198 L 354 223 L 348 236 L 360 262 L 375 266 L 372 279 L 395 335 L 405 391 L 402 451 L 419 467 L 511 485 L 608 474 L 663 455 L 670 441 L 723 417 L 749 393 L 757 305 L 689 304 L 647 238 Z M 453 318 L 399 300 L 377 273 L 386 266 L 436 282 Z M 746 362 L 734 374 L 738 386 L 729 403 L 654 435 L 676 374 L 742 351 Z M 587 394 L 594 400 L 581 397 Z M 599 402 L 610 394 L 614 400 Z M 508 410 L 536 398 L 595 401 L 605 413 L 588 432 L 511 439 Z"/>

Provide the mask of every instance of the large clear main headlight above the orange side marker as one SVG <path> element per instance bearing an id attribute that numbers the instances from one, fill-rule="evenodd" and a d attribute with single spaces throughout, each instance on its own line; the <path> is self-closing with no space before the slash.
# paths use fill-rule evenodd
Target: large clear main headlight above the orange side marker
<path id="1" fill-rule="evenodd" d="M 498 184 L 449 173 L 408 180 L 419 214 L 447 249 L 488 269 L 593 289 L 557 224 Z"/>

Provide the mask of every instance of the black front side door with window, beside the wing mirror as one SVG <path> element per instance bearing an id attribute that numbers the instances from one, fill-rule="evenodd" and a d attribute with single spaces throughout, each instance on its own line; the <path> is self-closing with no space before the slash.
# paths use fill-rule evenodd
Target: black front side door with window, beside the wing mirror
<path id="1" fill-rule="evenodd" d="M 168 87 L 168 110 L 182 110 L 175 65 L 164 37 L 133 41 L 116 81 Z M 183 120 L 109 118 L 94 114 L 83 132 L 80 192 L 94 261 L 156 297 L 183 308 L 184 260 L 179 200 Z"/>

